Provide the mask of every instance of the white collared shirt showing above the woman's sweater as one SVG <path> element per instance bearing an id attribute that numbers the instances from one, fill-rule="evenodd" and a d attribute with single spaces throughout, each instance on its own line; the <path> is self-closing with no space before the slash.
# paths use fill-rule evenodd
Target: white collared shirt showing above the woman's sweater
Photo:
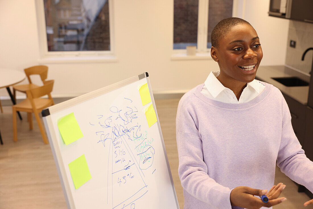
<path id="1" fill-rule="evenodd" d="M 204 82 L 201 93 L 210 99 L 214 99 L 220 102 L 239 104 L 244 102 L 249 102 L 250 100 L 257 97 L 262 93 L 265 86 L 253 80 L 247 83 L 247 86 L 242 91 L 239 100 L 237 100 L 236 95 L 232 90 L 223 86 L 221 82 L 216 78 L 219 75 L 219 71 L 210 72 L 207 80 Z"/>

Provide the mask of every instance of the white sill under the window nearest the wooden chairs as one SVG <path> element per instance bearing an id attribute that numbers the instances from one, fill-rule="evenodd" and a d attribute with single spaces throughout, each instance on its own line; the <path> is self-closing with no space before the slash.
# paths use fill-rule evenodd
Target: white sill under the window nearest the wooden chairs
<path id="1" fill-rule="evenodd" d="M 103 63 L 118 62 L 115 56 L 71 56 L 71 57 L 45 57 L 38 59 L 39 64 L 55 63 Z"/>

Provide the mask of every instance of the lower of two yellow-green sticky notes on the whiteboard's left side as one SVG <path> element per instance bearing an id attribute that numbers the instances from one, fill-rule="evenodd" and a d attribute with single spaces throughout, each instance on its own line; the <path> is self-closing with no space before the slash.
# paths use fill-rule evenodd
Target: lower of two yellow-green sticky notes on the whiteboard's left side
<path id="1" fill-rule="evenodd" d="M 69 171 L 71 172 L 75 189 L 80 188 L 81 185 L 91 179 L 85 155 L 69 163 Z"/>

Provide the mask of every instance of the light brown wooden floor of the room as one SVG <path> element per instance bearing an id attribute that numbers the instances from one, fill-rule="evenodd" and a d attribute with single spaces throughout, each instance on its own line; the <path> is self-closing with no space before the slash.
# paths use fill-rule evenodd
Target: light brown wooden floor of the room
<path id="1" fill-rule="evenodd" d="M 156 108 L 162 128 L 174 185 L 183 208 L 183 193 L 178 178 L 178 157 L 175 139 L 175 118 L 179 99 L 156 100 Z M 27 115 L 21 113 L 18 120 L 18 142 L 13 142 L 12 107 L 3 107 L 0 113 L 0 131 L 4 145 L 0 145 L 0 208 L 66 208 L 66 203 L 49 145 L 42 141 L 39 128 L 28 130 Z M 283 182 L 283 194 L 287 201 L 275 209 L 303 208 L 310 200 L 304 193 L 297 192 L 297 186 L 276 169 L 275 184 Z M 307 206 L 306 208 L 313 208 Z"/>

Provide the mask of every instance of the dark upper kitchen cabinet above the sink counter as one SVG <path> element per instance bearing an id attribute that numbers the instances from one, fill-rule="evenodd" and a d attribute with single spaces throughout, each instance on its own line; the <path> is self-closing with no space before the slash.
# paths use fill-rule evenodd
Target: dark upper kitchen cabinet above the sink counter
<path id="1" fill-rule="evenodd" d="M 270 0 L 269 16 L 313 23 L 313 0 Z"/>

